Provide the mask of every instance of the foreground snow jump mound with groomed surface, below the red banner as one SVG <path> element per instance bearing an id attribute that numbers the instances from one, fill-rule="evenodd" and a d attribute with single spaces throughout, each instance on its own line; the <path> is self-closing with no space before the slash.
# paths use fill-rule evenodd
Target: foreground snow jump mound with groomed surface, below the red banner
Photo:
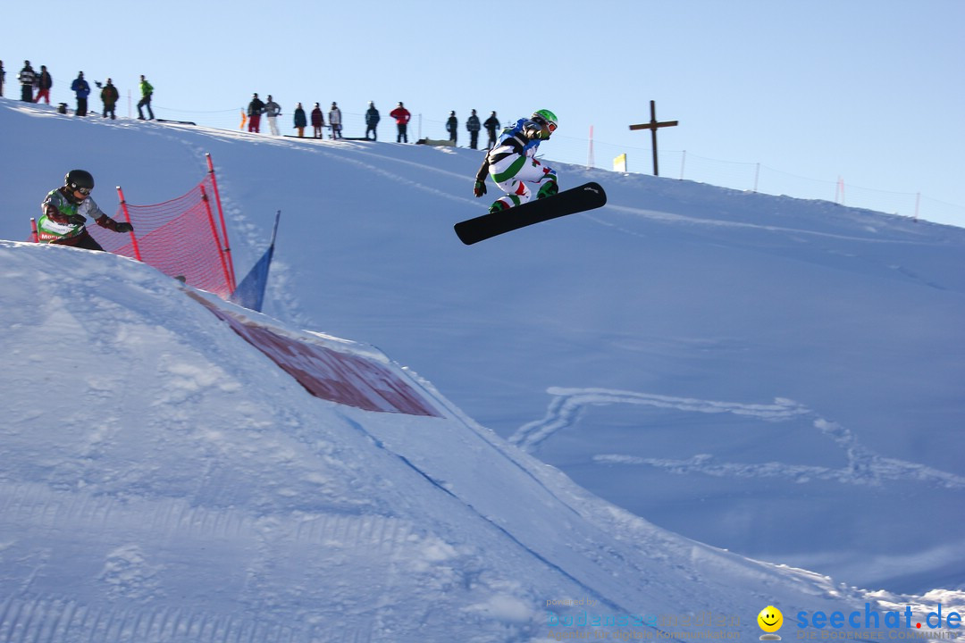
<path id="1" fill-rule="evenodd" d="M 765 604 L 879 604 L 594 498 L 391 362 L 439 416 L 313 397 L 150 267 L 3 242 L 0 271 L 0 640 L 534 640 L 565 600 L 746 635 Z"/>

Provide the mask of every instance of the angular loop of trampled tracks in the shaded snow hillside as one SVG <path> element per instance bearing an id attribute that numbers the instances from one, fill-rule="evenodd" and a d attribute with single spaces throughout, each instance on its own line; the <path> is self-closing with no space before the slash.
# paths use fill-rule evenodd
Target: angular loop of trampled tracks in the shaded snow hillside
<path id="1" fill-rule="evenodd" d="M 746 415 L 764 421 L 784 421 L 798 416 L 812 416 L 813 427 L 824 438 L 841 449 L 847 464 L 840 469 L 794 465 L 783 462 L 746 464 L 718 462 L 710 454 L 698 454 L 687 459 L 642 458 L 621 454 L 597 454 L 593 462 L 653 467 L 671 473 L 703 473 L 718 477 L 786 478 L 805 483 L 811 480 L 832 480 L 841 484 L 879 486 L 889 481 L 918 482 L 944 489 L 965 489 L 965 478 L 924 465 L 886 458 L 858 441 L 847 428 L 816 415 L 812 410 L 793 400 L 777 398 L 774 404 L 744 404 L 718 402 L 685 397 L 607 388 L 549 388 L 553 396 L 546 415 L 521 426 L 510 442 L 533 452 L 554 434 L 575 425 L 583 411 L 590 406 L 637 404 L 658 409 L 676 409 L 687 413 Z"/>

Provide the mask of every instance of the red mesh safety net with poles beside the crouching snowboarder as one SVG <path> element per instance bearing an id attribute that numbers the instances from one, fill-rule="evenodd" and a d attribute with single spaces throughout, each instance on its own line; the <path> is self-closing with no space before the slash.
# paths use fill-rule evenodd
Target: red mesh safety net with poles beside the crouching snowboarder
<path id="1" fill-rule="evenodd" d="M 171 201 L 134 205 L 124 201 L 120 187 L 118 195 L 121 204 L 114 219 L 130 222 L 134 232 L 88 226 L 104 250 L 144 261 L 223 299 L 234 292 L 234 266 L 213 169 L 194 189 Z"/>

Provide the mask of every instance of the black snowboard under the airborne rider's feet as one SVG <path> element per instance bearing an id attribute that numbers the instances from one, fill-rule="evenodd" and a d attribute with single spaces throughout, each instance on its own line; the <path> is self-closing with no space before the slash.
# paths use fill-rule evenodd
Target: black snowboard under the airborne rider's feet
<path id="1" fill-rule="evenodd" d="M 459 240 L 468 246 L 504 232 L 525 228 L 567 214 L 592 210 L 605 203 L 606 193 L 602 186 L 599 183 L 585 183 L 552 197 L 527 201 L 508 210 L 460 221 L 455 224 L 455 233 Z"/>

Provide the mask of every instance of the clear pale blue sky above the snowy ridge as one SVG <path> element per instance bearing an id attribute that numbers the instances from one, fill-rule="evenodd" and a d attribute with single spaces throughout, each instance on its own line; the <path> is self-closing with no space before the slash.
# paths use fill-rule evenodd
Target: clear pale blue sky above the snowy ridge
<path id="1" fill-rule="evenodd" d="M 282 104 L 284 133 L 297 101 L 337 100 L 352 125 L 369 100 L 383 117 L 402 100 L 431 138 L 450 110 L 508 121 L 545 107 L 561 121 L 547 158 L 585 163 L 593 125 L 596 165 L 626 151 L 638 172 L 649 134 L 628 125 L 652 99 L 658 119 L 680 121 L 659 133 L 661 174 L 708 159 L 701 180 L 739 185 L 759 163 L 763 180 L 814 179 L 794 196 L 829 200 L 841 177 L 848 204 L 859 187 L 921 192 L 959 206 L 965 226 L 963 27 L 962 0 L 48 0 L 4 10 L 0 59 L 8 96 L 29 59 L 50 68 L 55 102 L 72 105 L 78 70 L 111 76 L 126 114 L 144 73 L 160 116 L 232 129 L 254 92 Z M 380 139 L 392 130 L 383 121 Z"/>

